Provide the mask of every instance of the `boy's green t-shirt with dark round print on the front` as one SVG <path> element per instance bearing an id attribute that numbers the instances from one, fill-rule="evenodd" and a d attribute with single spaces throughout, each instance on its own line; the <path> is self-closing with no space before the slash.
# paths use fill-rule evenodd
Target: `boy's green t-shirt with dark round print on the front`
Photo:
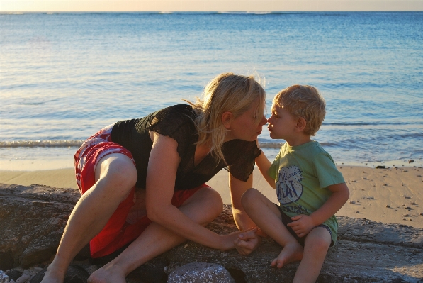
<path id="1" fill-rule="evenodd" d="M 314 140 L 298 146 L 282 145 L 268 174 L 275 179 L 278 201 L 289 217 L 310 215 L 331 196 L 328 186 L 345 182 L 332 157 Z M 323 224 L 332 231 L 335 243 L 337 218 L 332 216 Z"/>

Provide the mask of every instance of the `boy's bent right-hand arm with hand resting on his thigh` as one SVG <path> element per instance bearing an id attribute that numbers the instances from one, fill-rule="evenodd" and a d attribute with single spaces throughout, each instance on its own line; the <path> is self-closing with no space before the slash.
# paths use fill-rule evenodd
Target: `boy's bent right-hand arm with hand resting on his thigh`
<path id="1" fill-rule="evenodd" d="M 345 183 L 333 184 L 327 188 L 332 192 L 332 195 L 329 196 L 329 199 L 327 199 L 320 209 L 311 213 L 310 216 L 303 214 L 294 216 L 291 218 L 293 222 L 288 223 L 288 226 L 293 228 L 293 231 L 295 231 L 298 237 L 307 235 L 312 228 L 332 217 L 348 200 L 349 189 Z"/>

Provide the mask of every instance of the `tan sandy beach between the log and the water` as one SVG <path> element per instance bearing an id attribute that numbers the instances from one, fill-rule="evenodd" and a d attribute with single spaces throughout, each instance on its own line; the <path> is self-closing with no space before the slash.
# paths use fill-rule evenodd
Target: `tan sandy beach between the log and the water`
<path id="1" fill-rule="evenodd" d="M 422 167 L 338 166 L 350 190 L 349 201 L 338 211 L 339 216 L 367 218 L 383 223 L 400 223 L 423 228 Z M 0 171 L 0 183 L 44 184 L 52 187 L 77 188 L 72 168 L 38 171 Z M 228 174 L 220 171 L 208 184 L 218 190 L 224 204 L 230 204 Z M 276 202 L 275 191 L 259 170 L 254 170 L 253 186 Z"/>

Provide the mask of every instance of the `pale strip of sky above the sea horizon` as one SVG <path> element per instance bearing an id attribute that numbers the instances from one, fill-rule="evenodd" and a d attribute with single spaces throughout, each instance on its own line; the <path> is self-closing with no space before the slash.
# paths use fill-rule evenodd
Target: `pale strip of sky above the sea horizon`
<path id="1" fill-rule="evenodd" d="M 423 11 L 423 0 L 0 0 L 0 11 Z"/>

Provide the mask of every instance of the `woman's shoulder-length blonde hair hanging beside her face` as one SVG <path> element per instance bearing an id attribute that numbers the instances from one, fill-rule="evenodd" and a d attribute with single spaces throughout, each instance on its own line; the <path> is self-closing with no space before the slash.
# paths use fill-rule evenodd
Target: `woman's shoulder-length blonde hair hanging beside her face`
<path id="1" fill-rule="evenodd" d="M 193 106 L 198 114 L 195 124 L 198 131 L 198 145 L 210 145 L 210 152 L 219 160 L 225 160 L 222 145 L 227 129 L 222 123 L 222 114 L 231 112 L 235 118 L 247 111 L 259 99 L 256 109 L 256 123 L 263 118 L 266 92 L 254 76 L 233 73 L 219 74 L 203 91 L 203 98 Z"/>

